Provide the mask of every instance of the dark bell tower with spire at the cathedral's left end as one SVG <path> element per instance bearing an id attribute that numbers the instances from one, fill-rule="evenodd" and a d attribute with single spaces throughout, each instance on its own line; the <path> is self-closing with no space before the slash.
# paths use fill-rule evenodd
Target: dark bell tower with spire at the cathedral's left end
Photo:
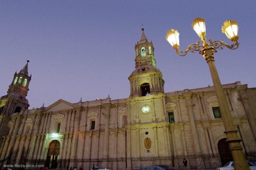
<path id="1" fill-rule="evenodd" d="M 13 81 L 9 85 L 7 95 L 0 98 L 0 114 L 8 115 L 11 113 L 21 112 L 22 109 L 29 107 L 26 96 L 29 91 L 29 83 L 31 74 L 28 73 L 28 63 L 21 69 L 19 73 L 15 72 Z"/>

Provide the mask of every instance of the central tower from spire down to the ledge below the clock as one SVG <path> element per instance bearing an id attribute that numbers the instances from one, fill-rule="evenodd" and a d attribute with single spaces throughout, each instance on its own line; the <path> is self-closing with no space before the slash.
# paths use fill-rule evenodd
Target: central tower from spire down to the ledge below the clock
<path id="1" fill-rule="evenodd" d="M 148 41 L 144 28 L 141 40 L 135 44 L 135 70 L 129 76 L 130 97 L 128 123 L 165 121 L 163 75 L 156 67 L 154 45 Z"/>

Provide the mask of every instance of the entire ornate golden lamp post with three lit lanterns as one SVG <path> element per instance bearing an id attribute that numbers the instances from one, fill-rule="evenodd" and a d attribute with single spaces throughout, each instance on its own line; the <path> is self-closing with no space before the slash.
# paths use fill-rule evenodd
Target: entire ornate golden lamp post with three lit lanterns
<path id="1" fill-rule="evenodd" d="M 226 36 L 235 43 L 231 45 L 227 45 L 223 41 L 212 41 L 211 39 L 209 39 L 209 43 L 207 43 L 205 38 L 205 20 L 202 18 L 195 18 L 192 23 L 192 28 L 201 38 L 201 41 L 203 43 L 202 45 L 200 44 L 200 41 L 197 41 L 197 43 L 189 45 L 185 51 L 180 51 L 179 33 L 177 30 L 174 29 L 170 29 L 169 31 L 167 31 L 166 40 L 173 46 L 178 55 L 185 56 L 188 53 L 188 51 L 198 51 L 199 54 L 203 55 L 204 59 L 207 61 L 215 92 L 218 98 L 220 111 L 223 117 L 223 123 L 225 126 L 224 133 L 227 136 L 226 142 L 229 143 L 229 150 L 232 153 L 235 169 L 249 169 L 249 166 L 245 161 L 243 149 L 240 145 L 241 139 L 239 139 L 237 135 L 237 130 L 235 130 L 235 125 L 227 105 L 226 97 L 219 80 L 219 76 L 217 73 L 217 69 L 215 67 L 213 57 L 213 54 L 217 52 L 216 49 L 223 49 L 224 46 L 232 50 L 238 48 L 238 24 L 236 21 L 227 20 L 224 22 L 224 25 L 222 26 L 222 32 L 226 34 Z"/>

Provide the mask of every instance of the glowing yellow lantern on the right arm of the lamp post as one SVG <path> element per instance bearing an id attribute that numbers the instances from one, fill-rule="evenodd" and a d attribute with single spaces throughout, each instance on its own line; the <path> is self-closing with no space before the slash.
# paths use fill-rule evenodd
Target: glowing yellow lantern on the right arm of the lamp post
<path id="1" fill-rule="evenodd" d="M 238 23 L 236 21 L 226 20 L 221 29 L 231 41 L 238 40 Z"/>

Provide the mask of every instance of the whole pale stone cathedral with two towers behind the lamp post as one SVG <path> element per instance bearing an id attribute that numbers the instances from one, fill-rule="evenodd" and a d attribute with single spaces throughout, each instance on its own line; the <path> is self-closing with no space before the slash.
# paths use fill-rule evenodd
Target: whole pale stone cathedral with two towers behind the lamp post
<path id="1" fill-rule="evenodd" d="M 171 156 L 225 152 L 226 135 L 213 86 L 165 92 L 155 49 L 142 28 L 130 96 L 28 109 L 28 63 L 0 98 L 0 160 L 29 149 L 30 159 Z M 28 61 L 29 62 L 29 61 Z M 256 150 L 256 88 L 223 85 L 246 152 Z M 127 89 L 129 90 L 129 89 Z"/>

